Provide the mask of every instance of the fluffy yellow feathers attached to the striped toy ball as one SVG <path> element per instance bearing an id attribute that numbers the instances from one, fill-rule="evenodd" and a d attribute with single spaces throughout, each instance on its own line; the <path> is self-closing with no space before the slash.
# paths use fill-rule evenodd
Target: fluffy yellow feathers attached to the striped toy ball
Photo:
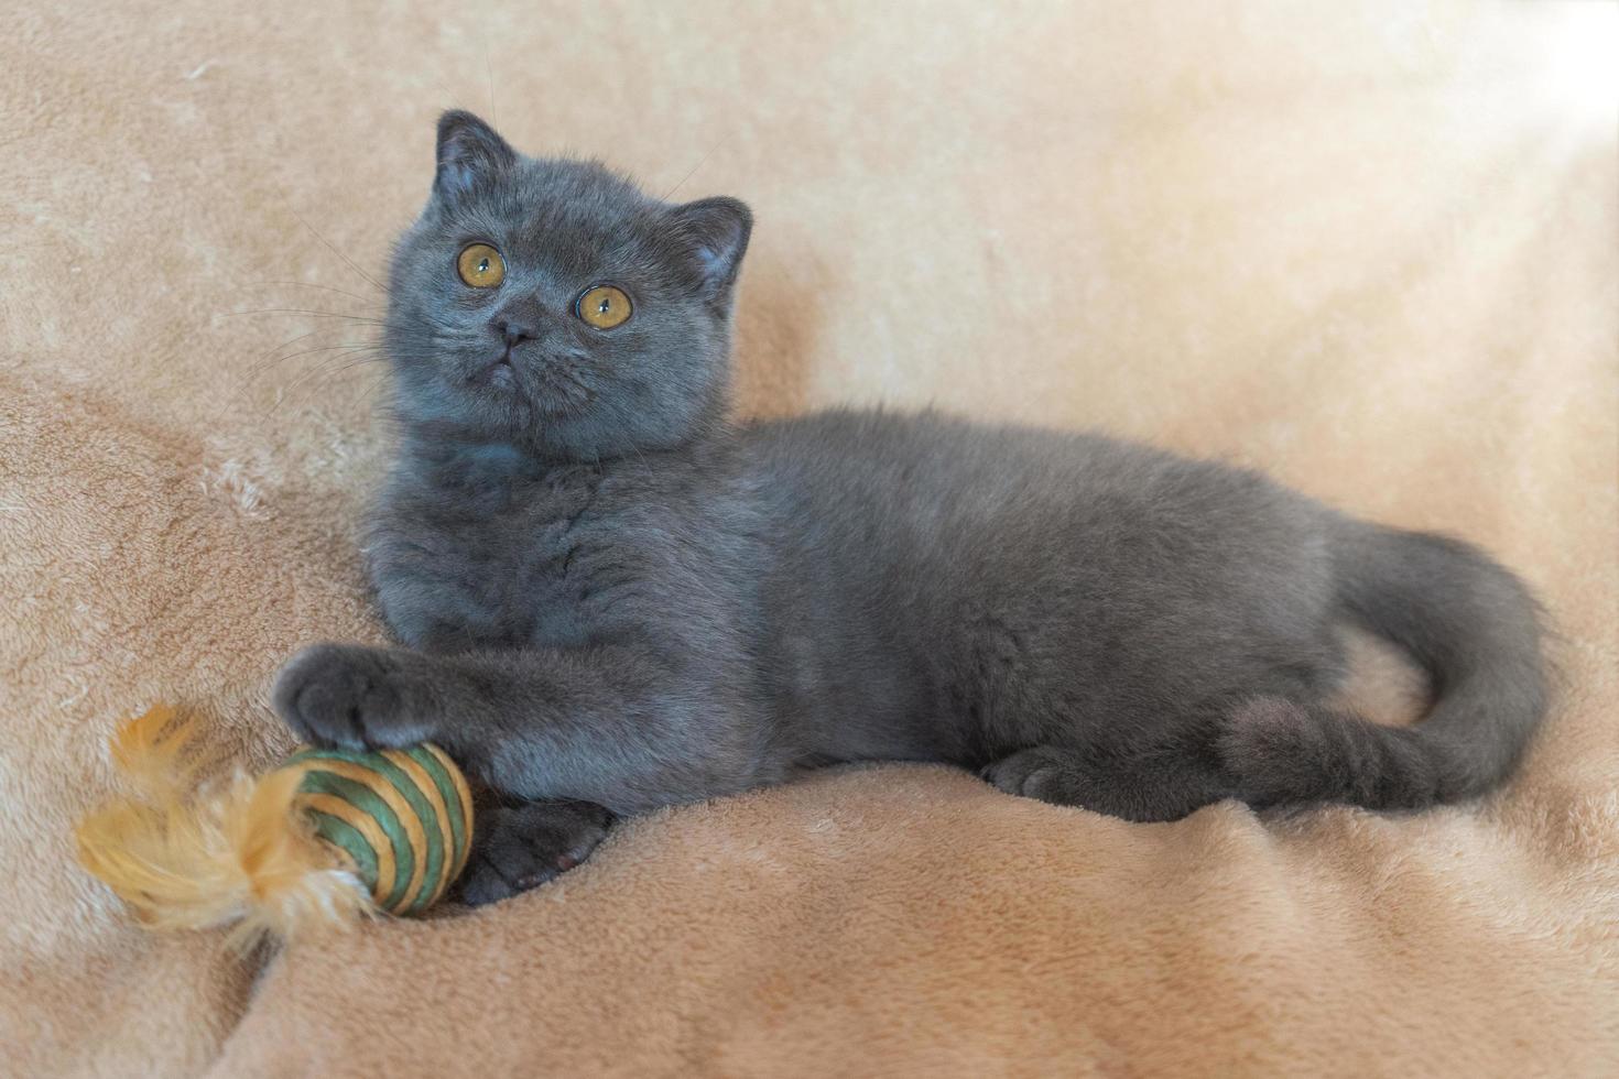
<path id="1" fill-rule="evenodd" d="M 89 872 L 152 929 L 233 924 L 236 945 L 376 912 L 366 888 L 295 809 L 300 773 L 257 781 L 238 773 L 186 798 L 199 767 L 193 734 L 189 717 L 159 709 L 118 731 L 113 760 L 147 798 L 108 802 L 79 822 L 79 861 Z"/>

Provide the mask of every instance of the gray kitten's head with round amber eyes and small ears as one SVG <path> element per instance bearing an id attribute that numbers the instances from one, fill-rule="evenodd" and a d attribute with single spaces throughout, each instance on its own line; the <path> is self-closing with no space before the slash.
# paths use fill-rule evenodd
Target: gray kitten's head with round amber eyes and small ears
<path id="1" fill-rule="evenodd" d="M 400 419 L 572 459 L 685 442 L 725 408 L 751 225 L 735 199 L 661 202 L 445 113 L 389 281 Z"/>

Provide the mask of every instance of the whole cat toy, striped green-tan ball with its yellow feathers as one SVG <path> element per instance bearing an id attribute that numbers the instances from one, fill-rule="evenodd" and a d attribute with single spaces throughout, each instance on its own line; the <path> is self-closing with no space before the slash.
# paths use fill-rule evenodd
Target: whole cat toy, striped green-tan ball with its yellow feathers
<path id="1" fill-rule="evenodd" d="M 126 721 L 112 757 L 139 791 L 78 827 L 79 861 L 151 929 L 235 925 L 291 938 L 376 914 L 418 914 L 466 865 L 473 796 L 431 743 L 300 749 L 259 778 L 198 788 L 194 717 Z"/>

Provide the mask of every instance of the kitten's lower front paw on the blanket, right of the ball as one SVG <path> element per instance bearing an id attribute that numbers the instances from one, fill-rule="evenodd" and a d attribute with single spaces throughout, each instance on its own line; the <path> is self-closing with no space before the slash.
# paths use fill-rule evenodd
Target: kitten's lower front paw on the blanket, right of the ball
<path id="1" fill-rule="evenodd" d="M 473 857 L 461 877 L 468 906 L 497 903 L 563 874 L 607 838 L 614 815 L 591 802 L 502 806 L 478 820 Z"/>

